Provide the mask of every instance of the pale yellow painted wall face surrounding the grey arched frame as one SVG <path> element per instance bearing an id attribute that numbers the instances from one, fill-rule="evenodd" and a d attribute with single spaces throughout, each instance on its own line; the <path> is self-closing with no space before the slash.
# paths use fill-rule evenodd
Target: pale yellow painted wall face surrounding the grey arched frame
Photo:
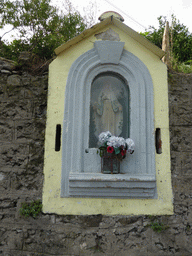
<path id="1" fill-rule="evenodd" d="M 124 26 L 124 25 L 123 25 Z M 162 151 L 156 154 L 157 199 L 101 199 L 101 198 L 61 198 L 61 152 L 55 152 L 55 130 L 63 124 L 64 98 L 67 75 L 72 63 L 83 53 L 93 48 L 94 34 L 65 48 L 49 67 L 49 89 L 47 126 L 45 137 L 43 211 L 57 214 L 103 214 L 103 215 L 171 215 L 173 214 L 167 69 L 159 57 L 142 43 L 120 29 L 108 24 L 101 31 L 112 28 L 119 34 L 125 49 L 136 55 L 148 68 L 154 85 L 155 128 L 161 128 Z M 124 28 L 124 27 L 123 27 Z M 97 31 L 98 33 L 98 31 Z M 62 147 L 62 145 L 61 145 Z"/>

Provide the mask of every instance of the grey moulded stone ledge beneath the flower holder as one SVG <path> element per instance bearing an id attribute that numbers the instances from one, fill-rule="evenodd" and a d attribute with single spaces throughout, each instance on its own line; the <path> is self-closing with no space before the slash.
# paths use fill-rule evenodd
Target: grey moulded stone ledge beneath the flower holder
<path id="1" fill-rule="evenodd" d="M 69 175 L 69 196 L 102 198 L 154 198 L 153 175 L 89 174 Z"/>

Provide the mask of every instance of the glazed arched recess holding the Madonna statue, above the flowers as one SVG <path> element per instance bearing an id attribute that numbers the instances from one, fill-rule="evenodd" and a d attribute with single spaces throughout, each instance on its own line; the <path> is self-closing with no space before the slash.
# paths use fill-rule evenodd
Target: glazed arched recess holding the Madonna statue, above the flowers
<path id="1" fill-rule="evenodd" d="M 113 73 L 96 77 L 91 87 L 89 147 L 97 147 L 101 132 L 128 137 L 128 86 Z"/>

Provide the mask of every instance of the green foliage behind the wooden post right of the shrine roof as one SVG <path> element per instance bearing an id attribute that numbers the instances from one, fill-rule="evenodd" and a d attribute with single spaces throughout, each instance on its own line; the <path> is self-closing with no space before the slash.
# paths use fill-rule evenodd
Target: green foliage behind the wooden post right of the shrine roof
<path id="1" fill-rule="evenodd" d="M 150 26 L 147 31 L 141 33 L 148 40 L 158 47 L 162 48 L 162 39 L 166 24 L 166 17 L 158 18 L 159 28 Z M 173 59 L 182 63 L 192 59 L 192 34 L 188 28 L 181 24 L 179 20 L 172 15 L 172 28 L 170 28 L 170 46 Z"/>

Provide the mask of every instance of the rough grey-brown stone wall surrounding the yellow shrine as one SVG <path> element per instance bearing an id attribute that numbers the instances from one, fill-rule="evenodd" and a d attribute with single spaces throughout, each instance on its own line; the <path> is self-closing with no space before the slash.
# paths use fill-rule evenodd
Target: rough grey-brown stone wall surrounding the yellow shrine
<path id="1" fill-rule="evenodd" d="M 192 255 L 192 75 L 169 73 L 173 216 L 19 214 L 41 199 L 47 73 L 0 60 L 0 255 Z"/>

